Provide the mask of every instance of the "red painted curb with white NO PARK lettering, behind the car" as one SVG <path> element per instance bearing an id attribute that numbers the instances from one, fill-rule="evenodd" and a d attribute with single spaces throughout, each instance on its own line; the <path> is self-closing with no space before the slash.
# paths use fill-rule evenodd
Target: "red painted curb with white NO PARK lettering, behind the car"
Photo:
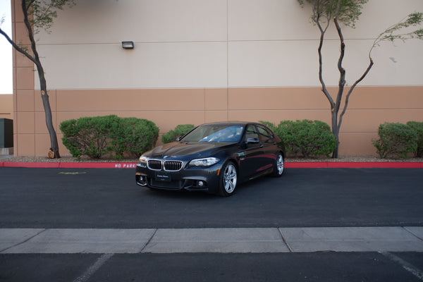
<path id="1" fill-rule="evenodd" d="M 135 168 L 137 163 L 97 162 L 97 163 L 30 163 L 18 161 L 0 162 L 0 167 L 22 168 Z M 286 162 L 286 168 L 423 168 L 423 162 L 402 161 L 304 161 Z"/>

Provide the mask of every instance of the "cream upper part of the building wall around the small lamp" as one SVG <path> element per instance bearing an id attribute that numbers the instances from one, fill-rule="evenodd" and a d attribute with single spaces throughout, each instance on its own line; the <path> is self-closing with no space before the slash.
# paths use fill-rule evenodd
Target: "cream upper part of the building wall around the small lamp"
<path id="1" fill-rule="evenodd" d="M 348 85 L 367 68 L 379 33 L 413 11 L 423 11 L 423 1 L 372 0 L 355 29 L 343 27 Z M 78 1 L 59 11 L 50 33 L 37 34 L 37 47 L 56 90 L 319 87 L 319 30 L 310 15 L 296 0 Z M 135 48 L 122 49 L 125 40 Z M 331 25 L 326 85 L 338 85 L 339 45 Z M 383 42 L 360 86 L 423 85 L 422 49 L 423 40 Z"/>

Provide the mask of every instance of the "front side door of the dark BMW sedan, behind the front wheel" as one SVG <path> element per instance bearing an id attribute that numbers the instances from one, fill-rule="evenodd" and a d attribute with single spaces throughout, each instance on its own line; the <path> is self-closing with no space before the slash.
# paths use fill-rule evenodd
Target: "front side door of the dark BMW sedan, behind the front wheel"
<path id="1" fill-rule="evenodd" d="M 244 179 L 253 178 L 265 166 L 264 149 L 259 140 L 255 125 L 247 125 L 243 137 L 243 151 L 240 153 L 240 175 Z"/>

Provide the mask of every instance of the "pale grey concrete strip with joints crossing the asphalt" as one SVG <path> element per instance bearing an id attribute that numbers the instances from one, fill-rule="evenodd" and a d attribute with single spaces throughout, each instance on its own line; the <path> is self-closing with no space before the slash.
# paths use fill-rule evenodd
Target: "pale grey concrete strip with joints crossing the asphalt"
<path id="1" fill-rule="evenodd" d="M 423 252 L 423 227 L 0 229 L 1 254 Z"/>

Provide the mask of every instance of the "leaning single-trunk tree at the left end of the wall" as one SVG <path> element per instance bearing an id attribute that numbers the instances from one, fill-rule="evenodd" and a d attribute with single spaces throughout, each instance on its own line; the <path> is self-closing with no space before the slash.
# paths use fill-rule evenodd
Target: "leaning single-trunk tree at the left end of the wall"
<path id="1" fill-rule="evenodd" d="M 30 39 L 30 48 L 23 46 L 19 42 L 13 41 L 13 39 L 8 37 L 6 32 L 0 28 L 0 34 L 6 37 L 8 42 L 12 44 L 16 51 L 19 51 L 21 54 L 30 59 L 37 68 L 46 125 L 50 135 L 50 149 L 52 152 L 54 152 L 54 158 L 60 158 L 59 145 L 57 142 L 56 130 L 54 130 L 53 121 L 51 118 L 49 95 L 47 94 L 47 81 L 44 75 L 44 68 L 42 67 L 42 63 L 39 59 L 37 42 L 35 41 L 34 34 L 37 33 L 40 29 L 48 31 L 53 23 L 54 18 L 57 17 L 57 11 L 63 9 L 64 6 L 71 7 L 73 5 L 75 5 L 74 0 L 20 0 L 25 29 L 27 30 L 27 35 Z M 1 23 L 3 22 L 4 18 L 1 20 Z"/>

